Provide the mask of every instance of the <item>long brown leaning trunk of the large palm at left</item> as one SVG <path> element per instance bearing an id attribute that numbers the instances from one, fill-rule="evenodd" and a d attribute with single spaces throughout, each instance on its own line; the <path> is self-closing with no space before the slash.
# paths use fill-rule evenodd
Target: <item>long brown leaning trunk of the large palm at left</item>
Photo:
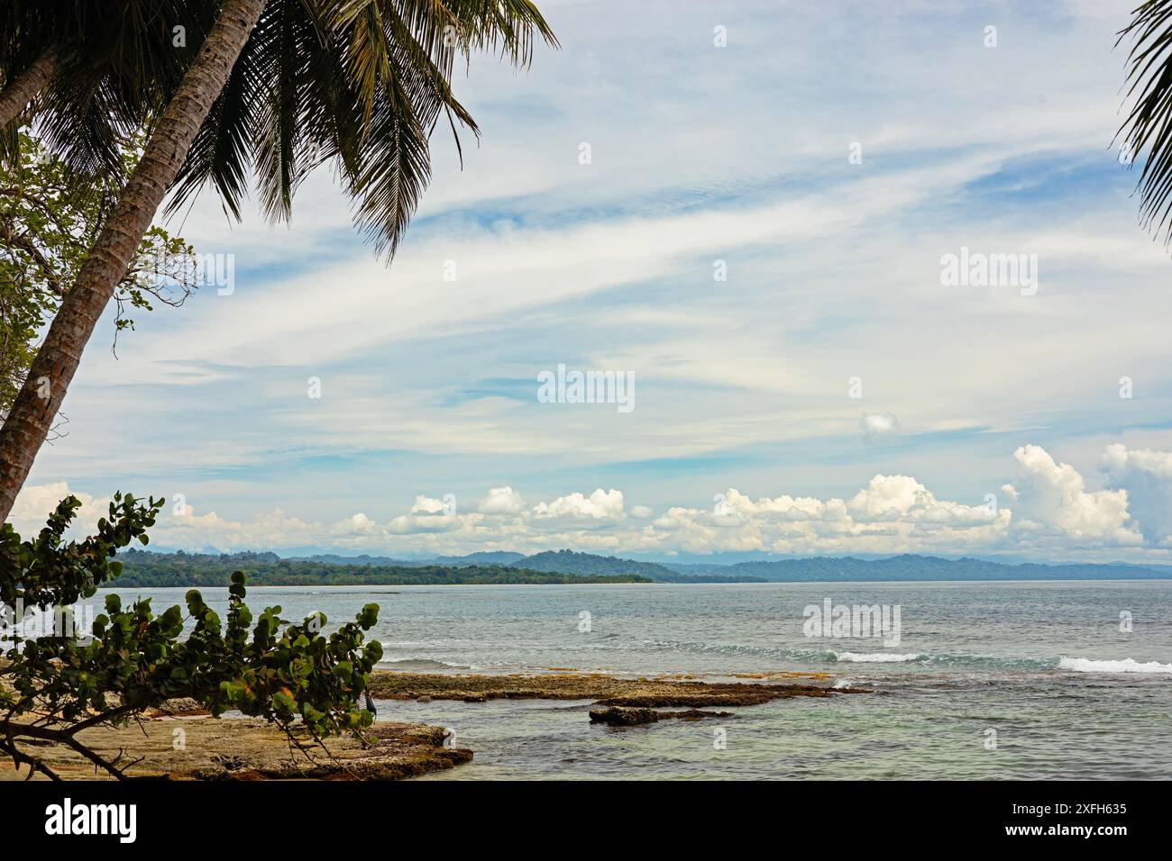
<path id="1" fill-rule="evenodd" d="M 66 294 L 0 429 L 0 521 L 7 520 L 102 310 L 178 176 L 266 0 L 224 0 L 216 23 L 158 122 L 138 166 Z"/>

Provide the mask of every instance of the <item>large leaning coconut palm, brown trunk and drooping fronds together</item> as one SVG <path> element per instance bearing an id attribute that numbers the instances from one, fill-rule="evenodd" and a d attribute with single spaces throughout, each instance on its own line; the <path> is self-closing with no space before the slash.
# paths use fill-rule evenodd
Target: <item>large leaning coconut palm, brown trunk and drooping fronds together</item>
<path id="1" fill-rule="evenodd" d="M 0 430 L 0 519 L 172 189 L 178 205 L 211 183 L 239 216 L 253 176 L 265 213 L 282 219 L 329 160 L 356 200 L 356 226 L 389 258 L 427 185 L 437 122 L 476 132 L 451 93 L 456 59 L 488 50 L 526 64 L 538 39 L 557 45 L 529 0 L 222 0 Z M 0 68 L 15 63 L 0 56 Z"/>

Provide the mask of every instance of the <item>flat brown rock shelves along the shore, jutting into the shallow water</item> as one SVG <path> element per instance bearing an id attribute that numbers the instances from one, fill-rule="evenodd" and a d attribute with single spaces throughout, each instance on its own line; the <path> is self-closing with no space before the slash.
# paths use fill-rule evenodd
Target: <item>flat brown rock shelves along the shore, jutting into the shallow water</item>
<path id="1" fill-rule="evenodd" d="M 825 674 L 762 674 L 754 682 L 701 682 L 689 678 L 616 678 L 601 674 L 557 672 L 538 676 L 451 676 L 377 670 L 370 692 L 379 699 L 588 699 L 590 719 L 611 726 L 634 726 L 663 719 L 699 720 L 735 717 L 715 706 L 759 705 L 789 697 L 866 693 L 830 686 Z M 800 683 L 775 683 L 800 679 Z M 663 709 L 684 711 L 663 711 Z M 263 720 L 216 719 L 195 703 L 172 701 L 123 729 L 86 730 L 82 739 L 109 759 L 138 760 L 127 774 L 170 780 L 402 780 L 452 768 L 472 760 L 472 751 L 450 746 L 438 726 L 380 722 L 364 734 L 291 740 Z M 110 779 L 95 773 L 79 753 L 50 744 L 26 744 L 64 779 Z M 27 770 L 0 760 L 0 780 L 22 780 Z M 35 779 L 42 779 L 38 774 Z"/>

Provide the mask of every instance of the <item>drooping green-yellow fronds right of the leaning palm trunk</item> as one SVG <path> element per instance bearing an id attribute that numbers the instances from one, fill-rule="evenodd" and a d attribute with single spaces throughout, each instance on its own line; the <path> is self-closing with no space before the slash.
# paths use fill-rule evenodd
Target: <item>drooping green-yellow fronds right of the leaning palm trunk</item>
<path id="1" fill-rule="evenodd" d="M 355 225 L 390 258 L 430 179 L 437 122 L 457 148 L 459 128 L 478 134 L 452 93 L 456 59 L 529 62 L 536 37 L 557 43 L 525 0 L 268 0 L 168 211 L 211 183 L 239 218 L 254 166 L 265 214 L 284 220 L 304 178 L 336 160 Z"/>

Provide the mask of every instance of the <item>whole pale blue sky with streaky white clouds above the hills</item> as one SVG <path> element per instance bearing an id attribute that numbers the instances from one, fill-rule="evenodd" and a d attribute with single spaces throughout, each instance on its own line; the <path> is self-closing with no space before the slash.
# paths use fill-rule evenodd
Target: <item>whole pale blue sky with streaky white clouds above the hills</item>
<path id="1" fill-rule="evenodd" d="M 560 50 L 459 70 L 481 138 L 436 131 L 389 267 L 328 169 L 289 225 L 168 221 L 231 291 L 117 357 L 103 320 L 13 520 L 123 490 L 188 549 L 1172 561 L 1131 5 L 539 2 Z M 626 406 L 540 397 L 559 365 Z"/>

